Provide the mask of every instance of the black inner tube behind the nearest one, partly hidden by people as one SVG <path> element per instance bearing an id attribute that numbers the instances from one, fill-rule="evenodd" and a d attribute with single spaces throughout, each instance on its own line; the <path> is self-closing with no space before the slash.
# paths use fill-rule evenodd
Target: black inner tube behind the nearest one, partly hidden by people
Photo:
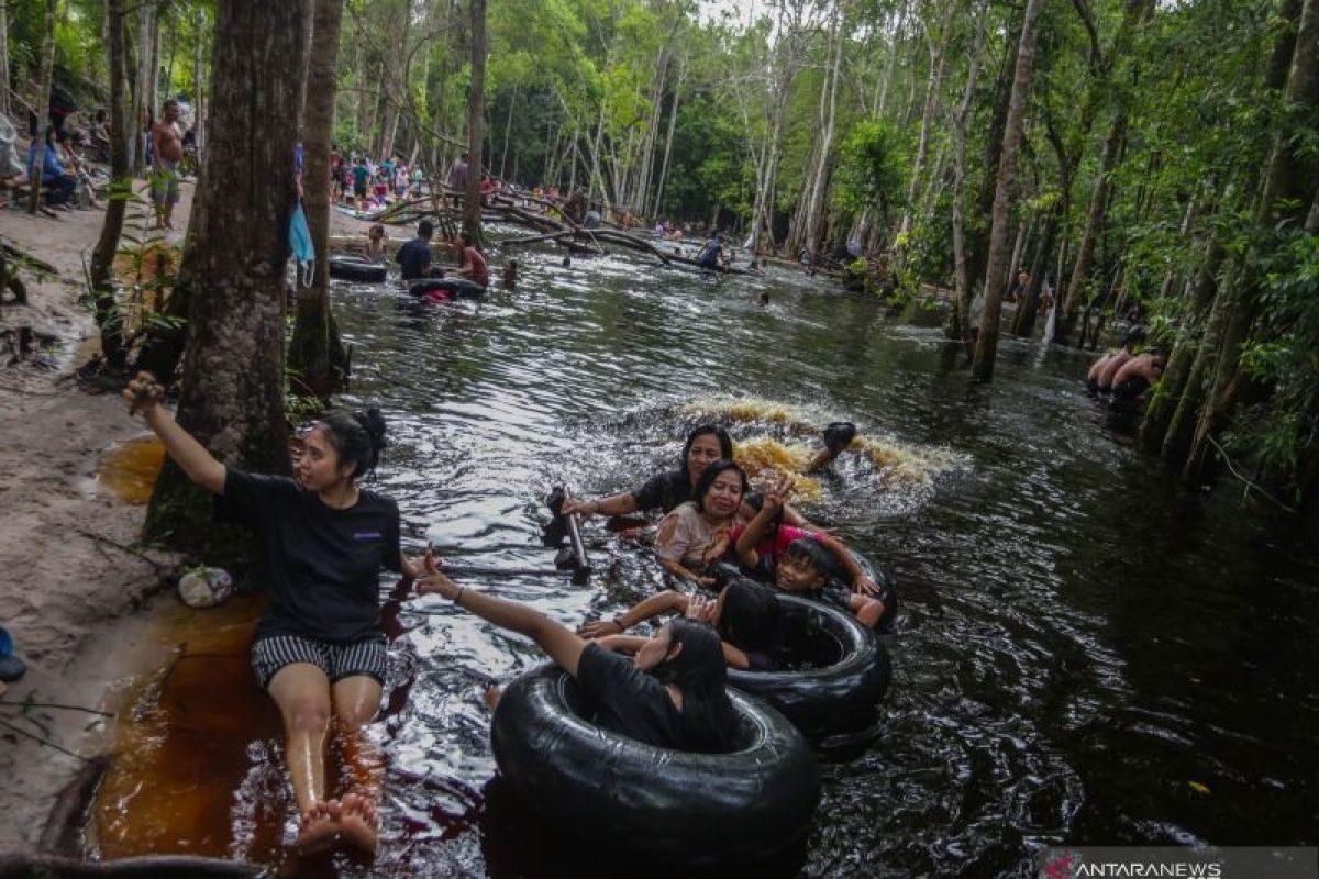
<path id="1" fill-rule="evenodd" d="M 782 608 L 776 658 L 787 668 L 729 668 L 729 687 L 765 700 L 811 739 L 872 733 L 893 677 L 888 650 L 844 610 L 797 596 L 776 598 Z"/>

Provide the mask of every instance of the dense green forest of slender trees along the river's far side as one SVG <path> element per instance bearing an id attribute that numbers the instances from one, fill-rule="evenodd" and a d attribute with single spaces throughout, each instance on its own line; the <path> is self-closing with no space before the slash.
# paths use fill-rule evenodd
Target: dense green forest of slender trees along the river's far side
<path id="1" fill-rule="evenodd" d="M 0 0 L 0 111 L 42 105 L 47 47 L 47 94 L 99 108 L 119 21 L 127 117 L 183 96 L 206 156 L 237 5 Z M 310 51 L 262 75 L 301 88 L 328 55 L 342 150 L 438 177 L 471 149 L 501 179 L 710 224 L 761 253 L 884 254 L 909 295 L 952 291 L 947 332 L 980 380 L 1000 332 L 1039 333 L 1045 283 L 1053 344 L 1095 347 L 1138 315 L 1169 357 L 1142 444 L 1187 478 L 1229 468 L 1266 503 L 1315 509 L 1316 0 L 288 5 L 278 26 Z M 332 22 L 336 55 L 314 20 Z M 1029 289 L 1000 324 L 1020 269 Z"/>

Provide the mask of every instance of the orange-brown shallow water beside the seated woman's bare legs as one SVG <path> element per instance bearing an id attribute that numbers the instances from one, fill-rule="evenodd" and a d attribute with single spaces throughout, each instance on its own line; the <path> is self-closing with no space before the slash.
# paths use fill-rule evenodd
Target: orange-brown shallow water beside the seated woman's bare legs
<path id="1" fill-rule="evenodd" d="M 248 647 L 262 598 L 182 606 L 150 637 L 177 644 L 120 713 L 88 842 L 104 859 L 191 854 L 281 861 L 280 718 L 257 688 Z"/>

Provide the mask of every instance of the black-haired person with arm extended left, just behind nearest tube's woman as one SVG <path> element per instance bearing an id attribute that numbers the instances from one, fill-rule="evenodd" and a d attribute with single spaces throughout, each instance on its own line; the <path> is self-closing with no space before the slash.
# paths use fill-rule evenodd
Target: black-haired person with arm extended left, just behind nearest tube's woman
<path id="1" fill-rule="evenodd" d="M 781 646 L 781 608 L 774 592 L 745 577 L 735 577 L 715 598 L 669 589 L 650 596 L 613 619 L 583 623 L 578 634 L 594 638 L 611 651 L 636 652 L 646 639 L 624 634 L 632 626 L 666 613 L 679 613 L 715 626 L 724 662 L 733 668 L 773 671 Z"/>

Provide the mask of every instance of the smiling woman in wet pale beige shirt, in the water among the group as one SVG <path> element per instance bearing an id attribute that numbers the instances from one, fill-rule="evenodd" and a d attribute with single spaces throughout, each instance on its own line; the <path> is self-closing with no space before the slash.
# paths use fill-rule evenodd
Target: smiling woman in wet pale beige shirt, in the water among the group
<path id="1" fill-rule="evenodd" d="M 733 461 L 720 459 L 700 472 L 692 499 L 679 503 L 660 521 L 656 555 L 663 569 L 700 586 L 714 586 L 704 569 L 728 550 L 728 530 L 741 525 L 747 474 Z"/>

